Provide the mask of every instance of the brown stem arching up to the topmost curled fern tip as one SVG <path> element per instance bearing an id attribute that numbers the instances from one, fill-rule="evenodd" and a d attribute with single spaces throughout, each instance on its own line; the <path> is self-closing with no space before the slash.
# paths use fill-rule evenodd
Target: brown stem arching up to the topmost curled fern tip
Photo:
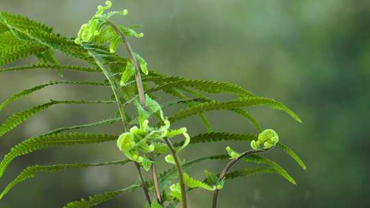
<path id="1" fill-rule="evenodd" d="M 107 18 L 104 18 L 104 21 L 106 21 L 106 23 L 108 23 L 108 25 L 110 25 L 110 27 L 114 29 L 116 34 L 118 34 L 122 38 L 123 45 L 125 46 L 125 49 L 129 55 L 130 61 L 132 65 L 135 67 L 136 87 L 138 88 L 140 105 L 143 107 L 143 109 L 145 109 L 145 92 L 143 88 L 143 81 L 141 79 L 140 68 L 138 66 L 138 62 L 136 60 L 135 53 L 132 50 L 130 42 L 128 42 L 125 34 L 123 34 L 123 32 L 119 29 L 119 27 L 117 27 L 112 21 L 110 21 Z M 160 190 L 159 190 L 159 185 L 158 185 L 158 176 L 156 172 L 156 166 L 154 164 L 151 165 L 151 175 L 153 176 L 153 185 L 156 190 L 156 196 L 157 196 L 158 203 L 162 204 L 162 196 L 160 195 Z"/>

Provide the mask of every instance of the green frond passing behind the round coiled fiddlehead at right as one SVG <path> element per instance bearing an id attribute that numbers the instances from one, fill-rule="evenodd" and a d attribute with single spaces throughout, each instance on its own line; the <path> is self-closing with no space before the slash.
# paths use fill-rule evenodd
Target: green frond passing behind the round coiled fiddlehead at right
<path id="1" fill-rule="evenodd" d="M 257 136 L 251 133 L 229 133 L 229 132 L 212 132 L 212 133 L 201 133 L 199 135 L 195 135 L 191 138 L 190 144 L 197 144 L 197 143 L 204 143 L 204 142 L 222 142 L 222 141 L 240 141 L 240 142 L 251 142 L 251 140 L 257 140 Z M 175 144 L 181 145 L 181 144 Z M 306 170 L 306 165 L 304 162 L 299 158 L 297 154 L 295 154 L 291 148 L 282 144 L 281 142 L 277 142 L 276 146 L 289 156 L 291 156 L 297 164 L 301 166 L 304 170 Z"/>

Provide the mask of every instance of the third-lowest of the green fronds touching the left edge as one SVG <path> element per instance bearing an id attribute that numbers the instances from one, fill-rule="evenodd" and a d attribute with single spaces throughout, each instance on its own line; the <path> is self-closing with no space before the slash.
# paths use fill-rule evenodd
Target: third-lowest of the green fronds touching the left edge
<path id="1" fill-rule="evenodd" d="M 19 113 L 16 113 L 10 116 L 8 119 L 6 119 L 1 124 L 0 136 L 4 135 L 8 131 L 11 131 L 12 129 L 20 125 L 23 121 L 28 120 L 30 117 L 34 116 L 35 114 L 38 114 L 53 105 L 58 105 L 58 104 L 110 104 L 110 103 L 114 103 L 114 101 L 50 101 L 48 103 L 44 103 L 36 107 L 25 109 L 23 110 L 23 112 L 19 112 Z"/>

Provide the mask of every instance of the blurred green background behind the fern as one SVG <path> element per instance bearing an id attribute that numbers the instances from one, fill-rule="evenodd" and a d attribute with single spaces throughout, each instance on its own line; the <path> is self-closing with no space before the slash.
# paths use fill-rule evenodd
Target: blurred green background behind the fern
<path id="1" fill-rule="evenodd" d="M 0 1 L 0 10 L 29 16 L 72 37 L 101 3 L 14 0 Z M 304 120 L 299 125 L 280 111 L 251 109 L 264 128 L 275 129 L 282 142 L 306 161 L 308 171 L 276 149 L 267 156 L 279 161 L 295 177 L 297 186 L 275 175 L 229 181 L 220 194 L 219 207 L 370 207 L 370 1 L 114 1 L 114 9 L 121 8 L 130 10 L 130 15 L 116 19 L 117 23 L 143 25 L 138 30 L 144 32 L 145 38 L 133 39 L 132 45 L 150 68 L 167 75 L 238 83 L 255 94 L 286 103 Z M 58 55 L 58 59 L 63 64 L 79 64 L 64 55 Z M 84 73 L 66 73 L 65 78 L 101 80 Z M 1 73 L 0 101 L 23 88 L 57 79 L 60 77 L 53 71 Z M 109 96 L 108 88 L 47 88 L 4 109 L 0 121 L 48 99 Z M 113 112 L 114 106 L 53 107 L 4 135 L 0 156 L 30 136 L 108 118 Z M 238 116 L 226 112 L 207 115 L 217 131 L 256 133 L 249 122 Z M 188 127 L 191 135 L 206 131 L 197 118 L 180 125 Z M 120 127 L 88 130 L 119 133 Z M 239 151 L 247 148 L 247 144 L 230 145 Z M 191 146 L 182 157 L 224 153 L 225 146 L 226 143 Z M 0 180 L 0 187 L 32 164 L 121 158 L 114 142 L 37 151 L 16 159 Z M 219 172 L 223 165 L 224 162 L 199 164 L 190 172 L 201 179 L 204 168 Z M 117 190 L 135 180 L 136 172 L 130 165 L 40 174 L 15 187 L 0 201 L 0 207 L 62 207 L 71 200 Z M 192 208 L 210 207 L 209 192 L 198 190 L 188 197 Z M 138 190 L 99 207 L 143 207 L 143 199 Z"/>

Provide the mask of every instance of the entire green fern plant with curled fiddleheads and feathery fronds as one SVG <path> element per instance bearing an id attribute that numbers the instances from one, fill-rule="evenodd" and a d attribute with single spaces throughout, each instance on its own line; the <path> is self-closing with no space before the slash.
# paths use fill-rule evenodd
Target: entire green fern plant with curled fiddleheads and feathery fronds
<path id="1" fill-rule="evenodd" d="M 116 151 L 121 151 L 121 161 L 108 161 L 101 164 L 58 164 L 51 166 L 34 165 L 25 168 L 13 181 L 5 186 L 0 194 L 3 198 L 19 183 L 36 177 L 39 172 L 60 172 L 71 168 L 89 168 L 96 166 L 127 166 L 134 164 L 138 172 L 138 181 L 121 190 L 107 191 L 82 198 L 64 207 L 95 207 L 123 192 L 143 190 L 147 202 L 145 207 L 175 207 L 178 203 L 183 208 L 189 207 L 186 193 L 194 189 L 204 189 L 212 192 L 212 207 L 217 207 L 219 192 L 225 182 L 238 177 L 253 174 L 279 174 L 288 182 L 295 184 L 295 180 L 284 168 L 274 161 L 262 157 L 260 153 L 270 151 L 275 146 L 291 156 L 301 168 L 306 166 L 288 146 L 282 144 L 279 136 L 273 129 L 262 129 L 258 121 L 247 112 L 246 108 L 264 105 L 273 109 L 280 109 L 297 122 L 300 118 L 284 104 L 273 99 L 256 96 L 244 88 L 232 83 L 188 79 L 185 77 L 166 76 L 149 70 L 145 59 L 135 53 L 128 38 L 142 38 L 135 27 L 116 25 L 110 20 L 112 16 L 126 16 L 127 10 L 108 12 L 112 3 L 99 5 L 97 12 L 88 23 L 82 25 L 77 38 L 64 38 L 53 33 L 53 29 L 29 18 L 0 12 L 0 65 L 10 64 L 25 57 L 36 56 L 37 63 L 12 68 L 1 68 L 0 73 L 22 70 L 57 70 L 62 76 L 64 70 L 97 73 L 103 81 L 50 81 L 38 86 L 18 92 L 0 103 L 0 112 L 5 107 L 25 96 L 56 85 L 76 85 L 109 87 L 112 96 L 109 100 L 95 101 L 56 101 L 51 100 L 35 107 L 25 109 L 7 118 L 0 125 L 0 136 L 15 129 L 22 122 L 29 120 L 53 105 L 88 105 L 114 104 L 117 112 L 107 120 L 100 120 L 89 124 L 73 127 L 62 127 L 46 132 L 44 135 L 34 136 L 16 144 L 0 161 L 0 177 L 12 164 L 16 157 L 27 155 L 43 148 L 74 146 L 77 144 L 97 144 L 101 142 L 116 142 Z M 116 55 L 116 49 L 123 46 L 128 57 Z M 79 60 L 83 60 L 90 67 L 68 66 L 56 60 L 55 53 L 63 53 Z M 149 87 L 149 84 L 151 83 Z M 155 96 L 162 91 L 173 96 L 173 101 L 163 103 Z M 210 99 L 207 94 L 229 93 L 236 96 L 230 101 Z M 161 103 L 162 102 L 162 103 Z M 161 103 L 161 104 L 160 104 Z M 127 106 L 134 105 L 136 112 L 128 112 Z M 167 115 L 164 109 L 169 105 L 185 105 L 185 108 L 173 115 Z M 249 120 L 256 127 L 254 133 L 217 132 L 212 129 L 205 113 L 215 110 L 225 110 L 239 114 Z M 191 130 L 185 127 L 172 129 L 173 123 L 189 116 L 198 116 L 208 130 L 206 133 L 190 136 Z M 79 133 L 77 129 L 112 125 L 122 123 L 121 135 L 110 133 Z M 176 142 L 175 142 L 176 141 Z M 238 153 L 230 146 L 225 148 L 226 154 L 199 155 L 190 161 L 180 158 L 186 146 L 208 142 L 239 141 L 245 146 L 245 152 Z M 174 143 L 175 142 L 175 143 Z M 165 155 L 161 161 L 160 155 Z M 229 160 L 219 173 L 204 171 L 204 179 L 195 179 L 186 172 L 190 166 L 202 161 Z M 238 162 L 254 163 L 255 168 L 242 168 L 230 172 L 232 166 Z M 156 164 L 167 162 L 173 165 L 169 170 L 160 171 Z M 128 167 L 127 167 L 128 168 Z M 145 176 L 150 174 L 151 178 Z M 53 205 L 54 207 L 55 205 Z"/>

